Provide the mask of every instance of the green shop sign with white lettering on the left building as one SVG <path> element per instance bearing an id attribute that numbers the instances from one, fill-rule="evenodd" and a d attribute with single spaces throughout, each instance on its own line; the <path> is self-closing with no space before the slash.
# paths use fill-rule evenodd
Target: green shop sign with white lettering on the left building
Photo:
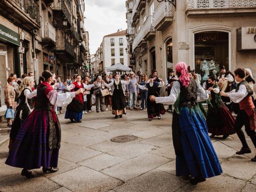
<path id="1" fill-rule="evenodd" d="M 0 39 L 20 46 L 20 34 L 0 24 Z"/>

